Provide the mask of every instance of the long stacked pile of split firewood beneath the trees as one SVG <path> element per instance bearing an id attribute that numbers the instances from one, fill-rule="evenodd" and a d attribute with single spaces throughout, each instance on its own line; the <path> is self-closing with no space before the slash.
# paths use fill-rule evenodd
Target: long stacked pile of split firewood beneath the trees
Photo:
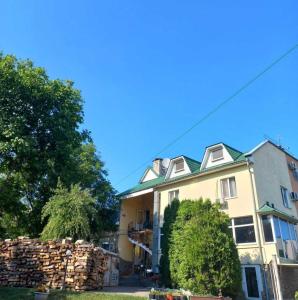
<path id="1" fill-rule="evenodd" d="M 71 255 L 67 257 L 66 251 Z M 68 262 L 67 262 L 68 260 Z M 102 288 L 108 256 L 84 241 L 40 241 L 19 237 L 0 240 L 0 286 L 51 288 L 63 285 L 73 290 Z"/>

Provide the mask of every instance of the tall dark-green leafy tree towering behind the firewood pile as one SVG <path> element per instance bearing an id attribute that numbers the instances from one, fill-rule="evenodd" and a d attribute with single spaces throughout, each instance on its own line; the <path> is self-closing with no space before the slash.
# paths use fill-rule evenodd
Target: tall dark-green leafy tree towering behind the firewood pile
<path id="1" fill-rule="evenodd" d="M 41 211 L 58 178 L 80 183 L 101 214 L 117 202 L 90 133 L 81 130 L 83 101 L 71 81 L 51 80 L 29 60 L 0 54 L 0 234 L 38 236 Z M 2 189 L 3 188 L 3 189 Z M 11 219 L 13 228 L 4 217 Z M 102 228 L 104 226 L 102 225 Z"/>

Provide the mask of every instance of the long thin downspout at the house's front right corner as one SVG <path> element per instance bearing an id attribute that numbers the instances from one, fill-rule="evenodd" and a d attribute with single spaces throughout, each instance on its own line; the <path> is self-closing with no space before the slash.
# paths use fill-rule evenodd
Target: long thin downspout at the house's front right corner
<path id="1" fill-rule="evenodd" d="M 254 180 L 253 180 L 253 174 L 251 172 L 251 168 L 250 165 L 252 165 L 253 162 L 249 159 L 246 158 L 246 165 L 247 165 L 247 169 L 249 172 L 249 178 L 250 178 L 250 186 L 251 186 L 251 190 L 252 190 L 252 197 L 253 197 L 253 205 L 254 205 L 254 217 L 256 220 L 256 224 L 257 224 L 257 237 L 258 237 L 258 248 L 259 248 L 259 252 L 260 252 L 260 256 L 261 256 L 261 264 L 262 264 L 262 269 L 263 269 L 263 278 L 264 278 L 264 285 L 265 285 L 265 292 L 266 292 L 266 300 L 270 300 L 269 298 L 269 290 L 268 290 L 268 283 L 267 283 L 267 278 L 265 275 L 265 268 L 264 268 L 264 256 L 263 256 L 263 249 L 262 249 L 262 245 L 261 245 L 261 231 L 260 231 L 260 222 L 259 222 L 259 217 L 257 215 L 257 197 L 255 194 L 255 186 L 254 186 Z"/>

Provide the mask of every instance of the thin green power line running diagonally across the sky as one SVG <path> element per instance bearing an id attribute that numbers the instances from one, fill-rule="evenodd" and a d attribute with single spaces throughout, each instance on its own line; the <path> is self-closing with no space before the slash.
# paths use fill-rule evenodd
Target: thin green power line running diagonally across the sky
<path id="1" fill-rule="evenodd" d="M 285 59 L 290 53 L 295 51 L 298 48 L 298 44 L 295 44 L 293 47 L 288 49 L 285 53 L 280 55 L 277 59 L 275 59 L 272 63 L 270 63 L 266 68 L 264 68 L 261 72 L 259 72 L 256 76 L 254 76 L 252 79 L 248 80 L 245 84 L 243 84 L 239 89 L 237 89 L 232 95 L 227 97 L 225 100 L 220 102 L 218 105 L 216 105 L 213 109 L 211 109 L 208 113 L 206 113 L 202 118 L 200 118 L 196 123 L 194 123 L 191 127 L 186 129 L 183 133 L 178 135 L 175 139 L 173 139 L 171 142 L 169 142 L 167 145 L 165 145 L 163 148 L 161 148 L 160 151 L 158 151 L 152 159 L 158 157 L 161 153 L 163 153 L 165 150 L 169 149 L 171 146 L 176 144 L 179 140 L 181 140 L 185 135 L 187 135 L 190 131 L 192 131 L 194 128 L 196 128 L 199 124 L 207 120 L 210 116 L 215 114 L 218 110 L 220 110 L 224 105 L 229 103 L 232 99 L 234 99 L 236 96 L 238 96 L 240 93 L 242 93 L 245 89 L 247 89 L 249 86 L 251 86 L 254 82 L 256 82 L 260 77 L 262 77 L 265 73 L 270 71 L 275 65 L 277 65 L 279 62 L 281 62 L 283 59 Z M 149 162 L 151 163 L 152 159 L 147 160 L 137 168 L 135 168 L 133 171 L 131 171 L 128 175 L 120 179 L 117 184 L 123 182 L 130 176 L 132 176 L 134 173 L 139 171 L 141 168 L 146 166 Z"/>

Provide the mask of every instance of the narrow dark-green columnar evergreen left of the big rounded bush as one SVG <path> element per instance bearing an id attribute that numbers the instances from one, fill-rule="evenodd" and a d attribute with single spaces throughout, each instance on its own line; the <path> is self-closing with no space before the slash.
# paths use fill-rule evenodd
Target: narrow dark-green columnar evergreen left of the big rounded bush
<path id="1" fill-rule="evenodd" d="M 169 261 L 169 239 L 172 234 L 173 224 L 176 220 L 179 208 L 179 200 L 173 200 L 164 211 L 164 224 L 161 230 L 161 249 L 162 255 L 160 259 L 160 273 L 162 284 L 171 287 L 170 261 Z"/>

